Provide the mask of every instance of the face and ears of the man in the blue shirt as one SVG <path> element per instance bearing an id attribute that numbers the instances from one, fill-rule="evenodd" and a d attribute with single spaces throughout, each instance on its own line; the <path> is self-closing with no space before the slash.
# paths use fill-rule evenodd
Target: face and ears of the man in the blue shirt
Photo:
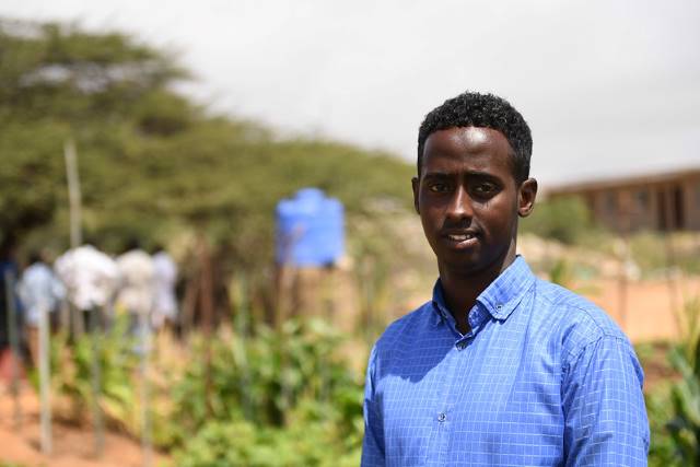
<path id="1" fill-rule="evenodd" d="M 413 202 L 441 275 L 498 275 L 515 258 L 517 218 L 532 211 L 537 183 L 518 186 L 511 157 L 490 128 L 451 128 L 425 141 Z"/>

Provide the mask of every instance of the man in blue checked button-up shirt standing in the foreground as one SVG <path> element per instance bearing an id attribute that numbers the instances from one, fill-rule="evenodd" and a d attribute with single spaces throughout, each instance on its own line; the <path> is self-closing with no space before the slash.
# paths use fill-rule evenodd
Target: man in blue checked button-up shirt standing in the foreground
<path id="1" fill-rule="evenodd" d="M 423 120 L 413 202 L 440 278 L 372 350 L 363 466 L 646 465 L 629 340 L 516 256 L 537 194 L 530 153 L 527 124 L 493 95 Z"/>

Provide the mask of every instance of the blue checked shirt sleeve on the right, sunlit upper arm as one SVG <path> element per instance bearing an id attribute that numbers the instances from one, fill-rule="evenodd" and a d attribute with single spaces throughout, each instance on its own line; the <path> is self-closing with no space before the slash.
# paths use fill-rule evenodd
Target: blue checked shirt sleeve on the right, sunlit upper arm
<path id="1" fill-rule="evenodd" d="M 630 343 L 605 336 L 564 367 L 567 466 L 646 466 L 642 369 Z"/>

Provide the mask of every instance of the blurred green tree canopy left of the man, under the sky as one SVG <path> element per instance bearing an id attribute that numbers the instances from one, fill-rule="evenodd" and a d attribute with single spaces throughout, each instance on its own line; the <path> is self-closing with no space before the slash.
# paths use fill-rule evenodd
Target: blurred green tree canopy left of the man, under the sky
<path id="1" fill-rule="evenodd" d="M 412 166 L 381 152 L 212 115 L 174 91 L 173 54 L 121 33 L 0 21 L 0 230 L 68 244 L 63 144 L 78 148 L 83 226 L 106 248 L 199 230 L 236 260 L 272 255 L 273 208 L 304 186 L 350 215 L 409 208 Z"/>

